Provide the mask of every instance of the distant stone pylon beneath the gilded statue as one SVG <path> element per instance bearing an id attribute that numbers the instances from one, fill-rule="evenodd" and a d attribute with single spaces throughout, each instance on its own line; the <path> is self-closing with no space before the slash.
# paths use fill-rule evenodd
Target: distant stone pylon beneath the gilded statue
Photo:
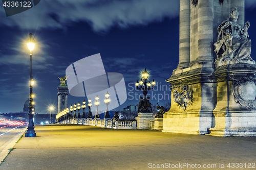
<path id="1" fill-rule="evenodd" d="M 68 107 L 68 86 L 59 86 L 58 90 L 58 113 Z"/>

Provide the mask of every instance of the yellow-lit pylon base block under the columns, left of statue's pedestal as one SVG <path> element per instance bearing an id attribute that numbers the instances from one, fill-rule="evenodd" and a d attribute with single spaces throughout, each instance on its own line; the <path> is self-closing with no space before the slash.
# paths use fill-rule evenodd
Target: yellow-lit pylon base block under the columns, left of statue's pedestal
<path id="1" fill-rule="evenodd" d="M 214 78 L 200 72 L 184 73 L 167 80 L 172 101 L 163 116 L 163 132 L 207 134 L 214 109 Z"/>

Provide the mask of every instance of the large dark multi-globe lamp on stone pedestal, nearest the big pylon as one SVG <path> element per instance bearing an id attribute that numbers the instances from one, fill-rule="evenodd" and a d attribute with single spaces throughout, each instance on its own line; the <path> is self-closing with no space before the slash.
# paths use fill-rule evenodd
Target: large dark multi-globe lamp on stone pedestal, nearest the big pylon
<path id="1" fill-rule="evenodd" d="M 150 75 L 146 71 L 146 68 L 142 72 L 141 76 L 142 76 L 143 81 L 142 81 L 142 79 L 140 79 L 140 82 L 138 82 L 138 80 L 137 80 L 137 82 L 135 83 L 137 89 L 138 90 L 142 90 L 143 91 L 143 95 L 144 95 L 144 98 L 140 97 L 140 103 L 139 103 L 139 106 L 138 106 L 138 112 L 151 113 L 152 112 L 152 107 L 151 107 L 151 103 L 149 101 L 150 97 L 146 97 L 146 95 L 147 95 L 147 91 L 148 90 L 151 90 L 151 89 L 154 88 L 154 86 L 156 85 L 156 82 L 153 79 L 152 86 L 151 86 L 150 81 L 147 82 L 147 78 Z M 149 109 L 149 108 L 151 108 L 151 109 Z"/>

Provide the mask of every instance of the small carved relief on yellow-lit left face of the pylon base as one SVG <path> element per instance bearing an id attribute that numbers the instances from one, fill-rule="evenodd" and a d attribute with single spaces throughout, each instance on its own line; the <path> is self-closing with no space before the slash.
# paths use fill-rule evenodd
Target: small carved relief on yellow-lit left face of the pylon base
<path id="1" fill-rule="evenodd" d="M 183 111 L 186 110 L 190 105 L 192 105 L 192 98 L 192 91 L 189 91 L 186 88 L 183 88 L 180 93 L 177 90 L 174 90 L 174 101 Z"/>

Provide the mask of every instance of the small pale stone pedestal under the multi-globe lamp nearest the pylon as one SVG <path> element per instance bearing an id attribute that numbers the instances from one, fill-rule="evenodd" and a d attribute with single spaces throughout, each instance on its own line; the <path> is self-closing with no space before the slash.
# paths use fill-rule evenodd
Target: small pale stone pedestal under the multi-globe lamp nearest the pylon
<path id="1" fill-rule="evenodd" d="M 153 113 L 138 113 L 138 116 L 135 117 L 137 129 L 150 129 L 150 120 L 154 118 Z"/>

